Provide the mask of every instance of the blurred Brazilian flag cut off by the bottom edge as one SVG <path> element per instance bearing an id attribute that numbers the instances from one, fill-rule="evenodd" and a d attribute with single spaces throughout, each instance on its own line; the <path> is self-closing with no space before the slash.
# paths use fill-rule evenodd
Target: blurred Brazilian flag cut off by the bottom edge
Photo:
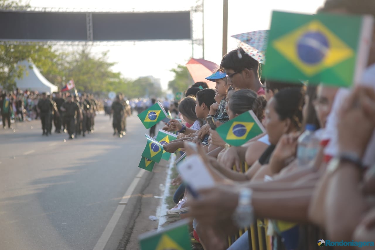
<path id="1" fill-rule="evenodd" d="M 159 232 L 139 235 L 141 250 L 190 250 L 187 220 L 173 223 Z"/>

